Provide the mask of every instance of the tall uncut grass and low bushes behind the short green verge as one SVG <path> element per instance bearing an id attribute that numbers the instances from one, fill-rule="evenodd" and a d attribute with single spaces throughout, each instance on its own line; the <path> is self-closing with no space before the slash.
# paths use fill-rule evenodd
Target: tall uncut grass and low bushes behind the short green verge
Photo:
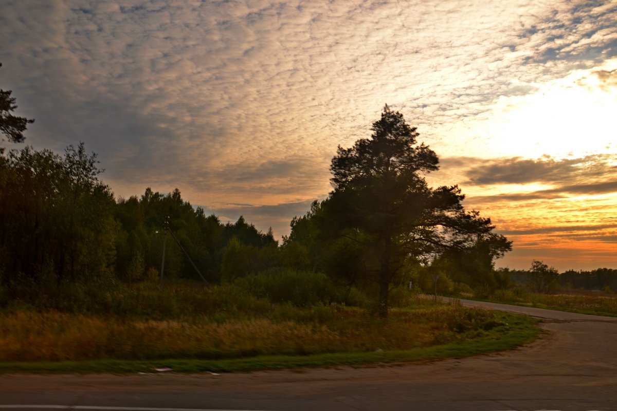
<path id="1" fill-rule="evenodd" d="M 232 283 L 72 285 L 0 311 L 0 361 L 238 359 L 408 350 L 508 332 L 499 315 L 392 293 L 387 321 L 323 274 L 270 271 Z"/>

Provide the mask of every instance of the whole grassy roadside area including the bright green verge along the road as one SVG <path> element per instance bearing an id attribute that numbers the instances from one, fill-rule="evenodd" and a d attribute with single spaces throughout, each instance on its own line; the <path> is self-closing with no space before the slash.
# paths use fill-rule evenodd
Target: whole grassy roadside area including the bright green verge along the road
<path id="1" fill-rule="evenodd" d="M 64 311 L 8 307 L 0 312 L 0 372 L 231 372 L 434 360 L 515 348 L 540 333 L 527 317 L 413 295 L 386 321 L 366 307 L 232 298 L 240 291 L 225 287 L 139 285 L 126 293 L 132 303 L 117 297 L 106 314 L 74 304 Z"/>

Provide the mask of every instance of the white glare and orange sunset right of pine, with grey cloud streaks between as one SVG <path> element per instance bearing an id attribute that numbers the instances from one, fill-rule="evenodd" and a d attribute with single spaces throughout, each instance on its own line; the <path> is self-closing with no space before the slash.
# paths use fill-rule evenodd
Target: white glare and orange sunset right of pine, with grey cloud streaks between
<path id="1" fill-rule="evenodd" d="M 531 92 L 499 97 L 461 123 L 458 152 L 447 153 L 489 161 L 474 181 L 459 181 L 467 206 L 513 241 L 497 265 L 529 267 L 541 254 L 561 271 L 614 266 L 617 59 L 521 86 Z"/>

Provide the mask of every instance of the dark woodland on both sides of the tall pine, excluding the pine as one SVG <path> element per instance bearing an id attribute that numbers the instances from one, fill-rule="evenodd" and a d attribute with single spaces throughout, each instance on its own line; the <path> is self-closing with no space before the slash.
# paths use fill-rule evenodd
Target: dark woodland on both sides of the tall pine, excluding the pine
<path id="1" fill-rule="evenodd" d="M 147 188 L 140 197 L 114 198 L 101 172 L 96 155 L 83 144 L 64 155 L 31 147 L 2 152 L 5 298 L 35 299 L 40 290 L 67 285 L 110 290 L 117 282 L 157 281 L 166 219 L 173 237 L 167 237 L 165 277 L 200 280 L 202 274 L 216 284 L 289 269 L 326 274 L 347 295 L 376 293 L 379 261 L 366 243 L 337 234 L 341 219 L 331 200 L 315 201 L 304 216 L 292 219 L 291 234 L 279 244 L 271 231 L 260 232 L 242 217 L 223 224 L 206 215 L 178 189 Z M 452 249 L 433 264 L 395 261 L 389 287 L 440 294 L 508 287 L 507 277 L 493 268 L 495 253 L 507 245 L 503 241 L 478 237 L 474 246 Z"/>

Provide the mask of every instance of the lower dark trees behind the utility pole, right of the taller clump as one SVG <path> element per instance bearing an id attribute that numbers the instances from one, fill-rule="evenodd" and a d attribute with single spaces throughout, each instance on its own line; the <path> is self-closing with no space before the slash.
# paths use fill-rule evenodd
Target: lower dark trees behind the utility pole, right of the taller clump
<path id="1" fill-rule="evenodd" d="M 278 264 L 278 243 L 271 232 L 263 234 L 242 216 L 234 224 L 222 224 L 217 216 L 205 216 L 203 208 L 183 201 L 178 189 L 162 194 L 147 188 L 139 199 L 118 200 L 122 230 L 117 237 L 116 272 L 123 279 L 143 279 L 148 269 L 160 267 L 166 216 L 170 229 L 208 282 L 217 283 L 222 275 L 232 280 Z M 141 268 L 141 274 L 136 268 Z M 165 276 L 199 278 L 173 241 L 167 243 Z"/>

